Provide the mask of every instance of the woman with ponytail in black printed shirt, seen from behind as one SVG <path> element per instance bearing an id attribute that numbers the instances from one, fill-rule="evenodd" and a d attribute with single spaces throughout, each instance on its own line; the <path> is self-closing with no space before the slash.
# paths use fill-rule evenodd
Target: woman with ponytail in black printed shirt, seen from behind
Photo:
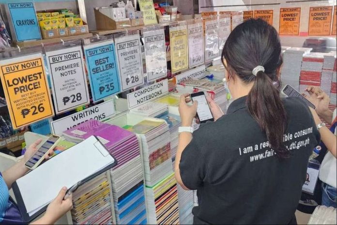
<path id="1" fill-rule="evenodd" d="M 214 122 L 181 132 L 175 176 L 197 190 L 194 224 L 296 224 L 309 156 L 320 135 L 298 98 L 280 98 L 281 45 L 260 19 L 237 26 L 222 52 L 233 102 L 226 115 L 209 100 Z M 181 97 L 183 127 L 197 102 Z M 188 130 L 188 129 L 181 129 Z"/>

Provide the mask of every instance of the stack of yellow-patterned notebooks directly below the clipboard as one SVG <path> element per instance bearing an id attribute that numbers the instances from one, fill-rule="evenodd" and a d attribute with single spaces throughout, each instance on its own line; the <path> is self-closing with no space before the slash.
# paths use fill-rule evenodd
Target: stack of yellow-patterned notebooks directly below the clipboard
<path id="1" fill-rule="evenodd" d="M 79 186 L 73 193 L 73 223 L 113 224 L 110 190 L 107 173 L 102 173 Z"/>

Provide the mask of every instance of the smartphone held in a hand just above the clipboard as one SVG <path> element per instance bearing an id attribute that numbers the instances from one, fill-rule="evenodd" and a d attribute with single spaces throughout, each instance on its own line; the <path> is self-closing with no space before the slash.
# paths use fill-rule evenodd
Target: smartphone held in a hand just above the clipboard
<path id="1" fill-rule="evenodd" d="M 59 136 L 51 135 L 46 142 L 41 145 L 39 149 L 31 156 L 31 158 L 26 161 L 25 166 L 31 170 L 35 169 L 44 159 L 46 154 L 50 149 L 53 149 L 58 141 L 60 140 Z"/>

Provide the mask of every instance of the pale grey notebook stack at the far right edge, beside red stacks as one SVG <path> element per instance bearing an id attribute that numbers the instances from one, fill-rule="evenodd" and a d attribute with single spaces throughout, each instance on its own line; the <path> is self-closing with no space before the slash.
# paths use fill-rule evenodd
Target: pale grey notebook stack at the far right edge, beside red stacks
<path id="1" fill-rule="evenodd" d="M 324 54 L 321 88 L 327 95 L 330 95 L 331 92 L 331 82 L 334 71 L 335 55 L 336 51 Z"/>

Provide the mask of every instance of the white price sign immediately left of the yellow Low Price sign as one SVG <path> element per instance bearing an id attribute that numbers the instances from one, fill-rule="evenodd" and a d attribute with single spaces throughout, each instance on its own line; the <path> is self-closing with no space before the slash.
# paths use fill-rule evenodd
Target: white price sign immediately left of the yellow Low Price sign
<path id="1" fill-rule="evenodd" d="M 144 32 L 144 40 L 148 80 L 166 77 L 167 61 L 164 30 Z"/>

